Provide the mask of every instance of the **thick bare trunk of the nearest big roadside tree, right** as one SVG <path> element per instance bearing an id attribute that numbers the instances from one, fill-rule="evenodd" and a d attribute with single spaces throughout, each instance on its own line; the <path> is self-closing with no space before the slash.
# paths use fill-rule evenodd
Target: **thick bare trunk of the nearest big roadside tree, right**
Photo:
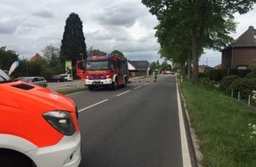
<path id="1" fill-rule="evenodd" d="M 199 41 L 196 28 L 192 28 L 192 84 L 199 84 Z"/>

